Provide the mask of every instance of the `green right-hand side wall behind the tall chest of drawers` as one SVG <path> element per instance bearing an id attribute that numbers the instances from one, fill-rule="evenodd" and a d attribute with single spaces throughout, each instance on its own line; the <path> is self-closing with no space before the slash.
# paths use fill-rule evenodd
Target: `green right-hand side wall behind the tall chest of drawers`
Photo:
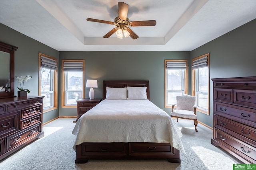
<path id="1" fill-rule="evenodd" d="M 191 59 L 210 53 L 210 78 L 256 76 L 256 19 L 191 51 Z M 213 82 L 210 80 L 210 116 L 198 120 L 212 127 Z"/>

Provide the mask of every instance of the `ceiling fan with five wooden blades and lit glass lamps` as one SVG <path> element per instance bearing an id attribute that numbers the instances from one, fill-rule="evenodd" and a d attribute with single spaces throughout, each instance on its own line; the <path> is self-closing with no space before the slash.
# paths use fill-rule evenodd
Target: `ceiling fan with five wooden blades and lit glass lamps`
<path id="1" fill-rule="evenodd" d="M 97 20 L 93 18 L 87 18 L 87 21 L 92 22 L 100 22 L 100 23 L 108 23 L 111 25 L 116 25 L 115 28 L 110 30 L 106 35 L 103 36 L 103 38 L 110 37 L 113 33 L 116 33 L 118 38 L 124 37 L 132 37 L 132 39 L 137 39 L 139 36 L 130 29 L 128 26 L 132 27 L 138 27 L 138 26 L 155 26 L 156 20 L 148 20 L 148 21 L 130 21 L 129 18 L 127 18 L 128 14 L 128 7 L 129 5 L 124 2 L 118 2 L 118 17 L 114 19 L 114 22 L 112 21 L 104 21 L 104 20 Z"/>

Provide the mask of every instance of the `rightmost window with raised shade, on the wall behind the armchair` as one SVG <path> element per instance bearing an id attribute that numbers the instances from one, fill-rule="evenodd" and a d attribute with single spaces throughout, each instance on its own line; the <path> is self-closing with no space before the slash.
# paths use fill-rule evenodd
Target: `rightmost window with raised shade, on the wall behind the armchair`
<path id="1" fill-rule="evenodd" d="M 193 89 L 197 110 L 209 115 L 209 53 L 192 59 Z"/>

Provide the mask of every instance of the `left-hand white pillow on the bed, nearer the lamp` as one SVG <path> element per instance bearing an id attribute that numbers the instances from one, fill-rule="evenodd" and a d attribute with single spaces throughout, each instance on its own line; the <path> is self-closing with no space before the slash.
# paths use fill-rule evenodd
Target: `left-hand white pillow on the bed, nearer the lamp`
<path id="1" fill-rule="evenodd" d="M 122 100 L 127 98 L 127 88 L 114 88 L 107 87 L 106 88 L 106 99 L 109 100 Z"/>

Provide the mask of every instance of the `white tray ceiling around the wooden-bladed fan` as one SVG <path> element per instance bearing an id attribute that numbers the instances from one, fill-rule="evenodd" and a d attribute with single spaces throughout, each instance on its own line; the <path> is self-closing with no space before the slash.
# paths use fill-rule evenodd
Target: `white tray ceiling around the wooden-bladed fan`
<path id="1" fill-rule="evenodd" d="M 192 51 L 256 18 L 256 0 L 120 0 L 138 36 L 102 38 L 114 25 L 118 0 L 0 0 L 0 23 L 58 51 Z"/>

